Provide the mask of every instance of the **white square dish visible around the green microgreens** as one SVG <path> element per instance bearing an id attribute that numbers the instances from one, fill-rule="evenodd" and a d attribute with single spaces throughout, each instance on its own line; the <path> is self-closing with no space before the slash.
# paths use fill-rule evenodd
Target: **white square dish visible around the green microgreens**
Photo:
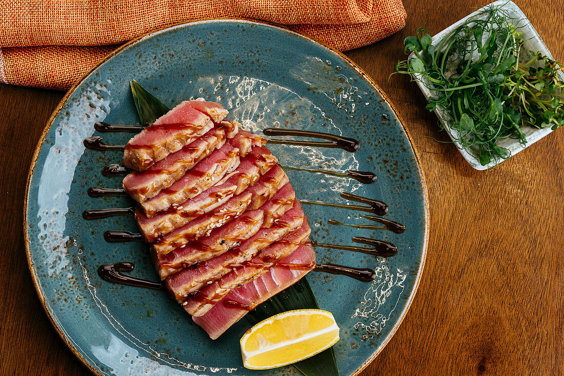
<path id="1" fill-rule="evenodd" d="M 473 19 L 473 18 L 479 19 L 481 12 L 483 12 L 484 10 L 486 10 L 487 8 L 492 7 L 492 6 L 493 7 L 500 7 L 500 8 L 503 8 L 504 10 L 506 10 L 509 13 L 509 16 L 512 18 L 513 24 L 515 26 L 518 26 L 520 32 L 524 33 L 524 35 L 523 35 L 523 41 L 524 42 L 523 42 L 523 46 L 522 46 L 522 51 L 540 52 L 541 54 L 546 55 L 546 56 L 550 57 L 550 59 L 554 60 L 552 55 L 550 54 L 550 51 L 548 50 L 547 46 L 544 44 L 543 39 L 540 38 L 539 33 L 536 32 L 534 27 L 532 27 L 531 21 L 529 21 L 527 19 L 527 17 L 523 13 L 523 11 L 521 9 L 519 9 L 519 7 L 517 5 L 515 5 L 513 2 L 510 2 L 510 1 L 507 1 L 507 0 L 499 0 L 499 1 L 493 2 L 490 5 L 487 5 L 483 8 L 475 11 L 474 13 L 464 17 L 463 19 L 461 19 L 457 23 L 455 23 L 451 26 L 448 26 L 448 28 L 444 29 L 442 32 L 438 33 L 437 35 L 435 35 L 433 37 L 433 45 L 437 46 L 440 43 L 440 41 L 442 41 L 442 39 L 445 38 L 448 35 L 448 33 L 452 32 L 453 29 L 460 26 L 466 20 Z M 523 54 L 523 55 L 525 55 L 525 54 Z M 408 59 L 412 59 L 413 57 L 416 57 L 414 53 L 409 55 Z M 527 60 L 530 59 L 530 56 L 528 54 L 525 57 L 527 57 Z M 564 74 L 562 72 L 559 72 L 558 76 L 560 77 L 560 79 L 562 81 L 564 81 Z M 425 78 L 422 77 L 421 74 L 415 74 L 415 80 L 417 82 L 417 85 L 420 87 L 421 91 L 425 95 L 425 98 L 429 99 L 432 96 L 432 91 L 429 90 L 425 86 L 425 84 L 424 84 Z M 445 127 L 445 129 L 448 132 L 448 135 L 451 137 L 452 141 L 455 143 L 456 147 L 459 149 L 459 151 L 462 154 L 462 156 L 464 157 L 464 159 L 468 163 L 470 163 L 470 166 L 474 167 L 474 169 L 476 169 L 476 170 L 486 170 L 486 169 L 493 167 L 493 166 L 497 165 L 498 163 L 504 161 L 503 158 L 495 158 L 490 163 L 488 163 L 486 166 L 482 166 L 477 157 L 475 157 L 474 155 L 472 155 L 471 153 L 469 153 L 468 151 L 463 149 L 462 145 L 455 140 L 456 136 L 458 136 L 459 134 L 456 130 L 452 130 L 447 126 L 446 119 L 448 118 L 448 112 L 444 108 L 437 107 L 437 109 L 435 109 L 435 113 L 437 114 L 437 117 L 439 118 L 440 122 L 442 122 L 443 126 Z M 541 138 L 543 138 L 544 136 L 546 136 L 550 132 L 552 132 L 552 129 L 550 129 L 550 126 L 545 127 L 545 128 L 541 128 L 541 129 L 537 129 L 537 128 L 534 128 L 534 127 L 527 125 L 527 126 L 522 126 L 521 130 L 526 135 L 527 144 L 525 146 L 521 145 L 521 143 L 519 143 L 519 140 L 512 139 L 512 138 L 505 138 L 505 139 L 499 140 L 497 142 L 497 145 L 500 146 L 500 147 L 504 147 L 504 148 L 508 149 L 509 152 L 511 153 L 511 155 L 514 156 L 518 152 L 522 151 L 526 147 L 530 146 L 531 144 L 535 143 L 536 141 L 540 140 Z"/>

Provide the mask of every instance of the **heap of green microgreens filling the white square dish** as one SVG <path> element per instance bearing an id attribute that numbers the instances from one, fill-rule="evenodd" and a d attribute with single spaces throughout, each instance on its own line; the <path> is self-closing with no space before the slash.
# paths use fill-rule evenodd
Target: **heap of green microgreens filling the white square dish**
<path id="1" fill-rule="evenodd" d="M 437 45 L 420 28 L 404 41 L 406 54 L 415 57 L 396 66 L 395 73 L 409 74 L 433 93 L 426 108 L 446 110 L 452 139 L 484 166 L 511 156 L 497 141 L 527 143 L 523 126 L 564 125 L 562 68 L 540 52 L 522 51 L 523 33 L 513 21 L 492 6 Z"/>

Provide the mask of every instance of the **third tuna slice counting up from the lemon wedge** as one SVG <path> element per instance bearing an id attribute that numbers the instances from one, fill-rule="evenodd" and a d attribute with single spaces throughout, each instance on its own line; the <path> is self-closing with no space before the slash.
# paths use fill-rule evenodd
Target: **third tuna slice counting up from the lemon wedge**
<path id="1" fill-rule="evenodd" d="M 189 294 L 200 290 L 208 282 L 226 275 L 233 268 L 240 267 L 275 241 L 296 231 L 303 223 L 303 210 L 299 201 L 294 201 L 288 210 L 270 228 L 261 228 L 255 235 L 241 245 L 213 259 L 201 262 L 195 267 L 184 268 L 166 278 L 165 286 L 179 302 L 186 300 Z"/>

